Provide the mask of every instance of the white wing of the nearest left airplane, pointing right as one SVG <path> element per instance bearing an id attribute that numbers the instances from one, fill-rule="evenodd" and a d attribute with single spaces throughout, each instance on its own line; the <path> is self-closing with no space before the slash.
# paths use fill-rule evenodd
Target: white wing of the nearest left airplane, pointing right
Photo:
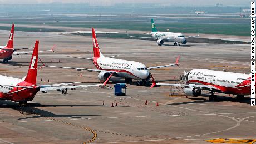
<path id="1" fill-rule="evenodd" d="M 97 83 L 97 84 L 89 84 L 89 85 L 75 85 L 75 83 L 59 83 L 59 84 L 53 84 L 53 85 L 41 85 L 40 91 L 42 93 L 47 93 L 47 91 L 62 91 L 66 88 L 85 88 L 85 87 L 93 87 L 93 86 L 101 86 L 103 84 Z M 73 85 L 72 85 L 73 84 Z"/>

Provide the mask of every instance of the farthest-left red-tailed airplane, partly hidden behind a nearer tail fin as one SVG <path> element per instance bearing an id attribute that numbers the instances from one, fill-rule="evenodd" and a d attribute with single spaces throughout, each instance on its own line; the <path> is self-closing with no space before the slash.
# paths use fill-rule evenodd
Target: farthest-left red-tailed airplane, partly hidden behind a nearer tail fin
<path id="1" fill-rule="evenodd" d="M 9 60 L 11 60 L 13 54 L 19 55 L 19 54 L 28 54 L 28 53 L 33 52 L 33 51 L 15 52 L 15 51 L 23 50 L 23 49 L 30 49 L 32 47 L 14 49 L 13 48 L 13 38 L 14 38 L 14 24 L 12 24 L 12 29 L 11 29 L 8 43 L 6 44 L 6 46 L 0 46 L 0 59 L 3 59 L 3 62 L 8 62 Z M 53 49 L 46 50 L 46 51 L 40 51 L 40 52 L 48 52 L 48 51 L 53 51 Z"/>

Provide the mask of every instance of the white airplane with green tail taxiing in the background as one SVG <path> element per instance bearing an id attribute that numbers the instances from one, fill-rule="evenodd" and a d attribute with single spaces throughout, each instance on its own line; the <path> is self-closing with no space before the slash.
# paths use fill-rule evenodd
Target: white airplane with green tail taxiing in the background
<path id="1" fill-rule="evenodd" d="M 158 44 L 158 46 L 162 46 L 164 42 L 174 42 L 173 43 L 174 46 L 177 46 L 177 43 L 178 43 L 178 46 L 180 46 L 180 43 L 181 44 L 187 43 L 186 38 L 199 36 L 199 32 L 198 32 L 198 36 L 189 36 L 189 37 L 185 37 L 182 33 L 159 32 L 156 29 L 153 19 L 151 19 L 151 24 L 152 24 L 152 32 L 150 34 L 152 35 L 152 37 L 134 37 L 134 36 L 130 36 L 130 37 L 156 40 L 156 43 Z"/>

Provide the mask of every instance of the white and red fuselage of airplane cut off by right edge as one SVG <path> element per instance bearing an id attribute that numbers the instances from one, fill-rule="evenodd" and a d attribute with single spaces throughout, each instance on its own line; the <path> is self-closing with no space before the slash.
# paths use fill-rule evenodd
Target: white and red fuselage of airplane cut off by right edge
<path id="1" fill-rule="evenodd" d="M 186 76 L 186 84 L 211 85 L 222 93 L 250 95 L 250 75 L 233 72 L 193 69 Z"/>

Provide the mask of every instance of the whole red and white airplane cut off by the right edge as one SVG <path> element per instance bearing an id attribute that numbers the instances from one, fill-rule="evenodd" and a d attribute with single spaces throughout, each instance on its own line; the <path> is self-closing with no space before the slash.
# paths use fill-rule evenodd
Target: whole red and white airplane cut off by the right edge
<path id="1" fill-rule="evenodd" d="M 214 92 L 237 95 L 238 99 L 244 95 L 250 95 L 251 74 L 213 71 L 207 69 L 193 69 L 184 71 L 186 84 L 155 83 L 155 85 L 180 86 L 184 87 L 184 93 L 188 96 L 200 96 L 202 90 L 210 91 L 209 100 L 217 98 Z"/>

